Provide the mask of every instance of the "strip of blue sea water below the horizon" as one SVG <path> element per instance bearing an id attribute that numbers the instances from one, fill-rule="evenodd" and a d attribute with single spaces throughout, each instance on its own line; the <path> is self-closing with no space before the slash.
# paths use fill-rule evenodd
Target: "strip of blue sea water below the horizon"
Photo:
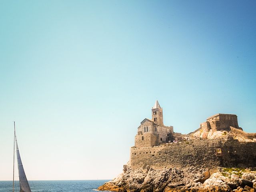
<path id="1" fill-rule="evenodd" d="M 28 181 L 32 192 L 95 192 L 109 180 Z M 19 182 L 15 182 L 19 192 Z M 12 192 L 12 181 L 0 181 L 0 192 Z"/>

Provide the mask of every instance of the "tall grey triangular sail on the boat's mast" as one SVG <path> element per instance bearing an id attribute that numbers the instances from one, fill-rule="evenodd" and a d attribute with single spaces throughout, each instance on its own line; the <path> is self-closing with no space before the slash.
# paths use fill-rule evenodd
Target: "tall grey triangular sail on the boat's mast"
<path id="1" fill-rule="evenodd" d="M 20 192 L 31 192 L 28 184 L 28 180 L 21 162 L 16 134 L 14 133 L 14 135 L 15 135 L 16 154 L 17 154 L 17 162 L 18 162 L 18 170 L 19 170 L 19 178 L 20 178 Z"/>

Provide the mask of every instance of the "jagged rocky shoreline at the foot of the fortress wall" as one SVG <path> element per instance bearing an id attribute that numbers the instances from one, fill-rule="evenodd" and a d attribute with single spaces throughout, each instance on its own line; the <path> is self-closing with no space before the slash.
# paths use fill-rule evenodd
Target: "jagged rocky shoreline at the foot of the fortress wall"
<path id="1" fill-rule="evenodd" d="M 212 174 L 210 175 L 210 172 Z M 131 169 L 98 190 L 120 192 L 256 192 L 256 172 L 251 170 L 190 167 Z"/>

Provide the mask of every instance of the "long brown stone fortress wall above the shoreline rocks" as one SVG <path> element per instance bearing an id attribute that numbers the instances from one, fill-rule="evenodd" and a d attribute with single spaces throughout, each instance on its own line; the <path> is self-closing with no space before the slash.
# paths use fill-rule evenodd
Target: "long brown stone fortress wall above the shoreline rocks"
<path id="1" fill-rule="evenodd" d="M 192 140 L 146 148 L 131 148 L 132 168 L 201 166 L 256 167 L 256 142 Z"/>

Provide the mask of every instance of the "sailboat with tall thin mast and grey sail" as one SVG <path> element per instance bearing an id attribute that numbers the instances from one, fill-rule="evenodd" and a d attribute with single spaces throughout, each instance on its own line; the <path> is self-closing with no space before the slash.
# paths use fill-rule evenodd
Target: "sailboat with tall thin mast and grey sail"
<path id="1" fill-rule="evenodd" d="M 31 192 L 30 186 L 28 184 L 28 180 L 21 162 L 20 152 L 18 148 L 16 132 L 15 132 L 15 122 L 14 122 L 14 146 L 13 146 L 13 182 L 12 182 L 12 192 L 14 192 L 14 154 L 15 154 L 15 146 L 16 146 L 16 156 L 18 162 L 18 172 L 19 172 L 19 179 L 20 179 L 20 192 Z"/>

